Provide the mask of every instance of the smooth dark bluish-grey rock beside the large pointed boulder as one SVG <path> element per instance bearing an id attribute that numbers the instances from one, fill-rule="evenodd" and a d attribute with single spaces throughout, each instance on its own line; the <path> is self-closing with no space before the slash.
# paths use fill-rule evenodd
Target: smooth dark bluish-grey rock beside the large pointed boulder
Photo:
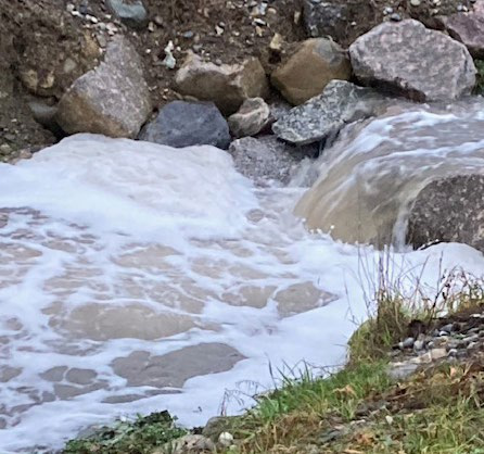
<path id="1" fill-rule="evenodd" d="M 175 148 L 208 144 L 227 149 L 230 134 L 213 102 L 173 101 L 142 129 L 139 139 Z"/>

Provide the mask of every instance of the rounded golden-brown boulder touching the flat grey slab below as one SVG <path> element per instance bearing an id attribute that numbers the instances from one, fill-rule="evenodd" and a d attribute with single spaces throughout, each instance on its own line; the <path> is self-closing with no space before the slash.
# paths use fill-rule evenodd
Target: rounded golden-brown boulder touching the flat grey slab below
<path id="1" fill-rule="evenodd" d="M 271 76 L 272 85 L 292 104 L 300 105 L 320 94 L 333 79 L 347 80 L 352 66 L 346 52 L 326 38 L 302 42 Z"/>

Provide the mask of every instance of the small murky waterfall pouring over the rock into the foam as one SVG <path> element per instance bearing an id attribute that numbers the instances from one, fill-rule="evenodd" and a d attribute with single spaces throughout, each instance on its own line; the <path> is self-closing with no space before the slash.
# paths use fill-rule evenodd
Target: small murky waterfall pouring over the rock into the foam
<path id="1" fill-rule="evenodd" d="M 432 179 L 484 173 L 484 101 L 395 108 L 346 128 L 314 166 L 295 213 L 344 242 L 402 247 L 410 204 Z"/>

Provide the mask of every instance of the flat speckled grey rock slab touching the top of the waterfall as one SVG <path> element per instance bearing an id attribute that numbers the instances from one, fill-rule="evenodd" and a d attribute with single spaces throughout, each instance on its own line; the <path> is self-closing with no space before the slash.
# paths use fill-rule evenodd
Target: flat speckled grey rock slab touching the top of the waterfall
<path id="1" fill-rule="evenodd" d="M 393 102 L 371 88 L 332 80 L 323 92 L 292 109 L 272 125 L 282 140 L 295 144 L 334 136 L 346 124 L 377 115 Z"/>

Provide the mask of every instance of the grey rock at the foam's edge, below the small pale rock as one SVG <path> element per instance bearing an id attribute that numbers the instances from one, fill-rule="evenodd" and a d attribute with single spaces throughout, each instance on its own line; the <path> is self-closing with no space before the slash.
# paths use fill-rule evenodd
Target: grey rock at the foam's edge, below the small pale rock
<path id="1" fill-rule="evenodd" d="M 292 147 L 275 136 L 244 137 L 229 148 L 235 168 L 259 186 L 265 186 L 267 180 L 288 184 L 298 163 L 304 157 L 313 157 L 317 151 L 318 147 Z"/>

